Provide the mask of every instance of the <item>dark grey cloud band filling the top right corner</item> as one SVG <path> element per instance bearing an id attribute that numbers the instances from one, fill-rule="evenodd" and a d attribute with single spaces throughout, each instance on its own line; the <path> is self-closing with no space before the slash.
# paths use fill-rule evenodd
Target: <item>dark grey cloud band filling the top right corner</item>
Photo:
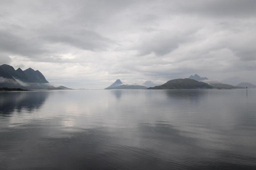
<path id="1" fill-rule="evenodd" d="M 167 9 L 172 13 L 196 14 L 202 17 L 248 17 L 256 14 L 255 7 L 254 0 L 181 0 L 170 1 Z"/>

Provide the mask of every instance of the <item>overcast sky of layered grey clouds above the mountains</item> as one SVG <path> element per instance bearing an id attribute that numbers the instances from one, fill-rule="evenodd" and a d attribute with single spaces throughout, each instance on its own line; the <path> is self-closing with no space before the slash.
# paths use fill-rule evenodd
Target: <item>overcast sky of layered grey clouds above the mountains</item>
<path id="1" fill-rule="evenodd" d="M 0 0 L 0 64 L 104 89 L 201 77 L 256 83 L 255 0 Z"/>

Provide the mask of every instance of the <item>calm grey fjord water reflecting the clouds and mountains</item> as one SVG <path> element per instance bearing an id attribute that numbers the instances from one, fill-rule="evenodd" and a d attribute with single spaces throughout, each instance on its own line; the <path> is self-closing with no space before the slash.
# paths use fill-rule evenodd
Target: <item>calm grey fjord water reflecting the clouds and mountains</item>
<path id="1" fill-rule="evenodd" d="M 0 169 L 256 169 L 256 89 L 0 93 Z"/>

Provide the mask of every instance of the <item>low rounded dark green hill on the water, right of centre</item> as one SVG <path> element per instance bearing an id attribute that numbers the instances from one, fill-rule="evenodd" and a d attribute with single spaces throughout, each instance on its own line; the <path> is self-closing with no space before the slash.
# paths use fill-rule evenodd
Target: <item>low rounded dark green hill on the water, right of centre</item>
<path id="1" fill-rule="evenodd" d="M 169 80 L 166 83 L 150 87 L 148 89 L 212 89 L 213 87 L 207 83 L 199 82 L 193 79 L 185 78 L 185 79 L 174 79 Z"/>

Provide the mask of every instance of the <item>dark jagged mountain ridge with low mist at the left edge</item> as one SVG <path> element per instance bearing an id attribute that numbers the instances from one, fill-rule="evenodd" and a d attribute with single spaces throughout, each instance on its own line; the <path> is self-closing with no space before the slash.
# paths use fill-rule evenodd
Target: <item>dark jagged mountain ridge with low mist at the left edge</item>
<path id="1" fill-rule="evenodd" d="M 12 66 L 7 64 L 0 65 L 0 87 L 21 89 L 56 88 L 51 85 L 38 70 L 35 71 L 32 68 L 28 68 L 24 71 L 21 68 L 15 70 Z M 64 86 L 58 88 L 69 89 Z"/>

